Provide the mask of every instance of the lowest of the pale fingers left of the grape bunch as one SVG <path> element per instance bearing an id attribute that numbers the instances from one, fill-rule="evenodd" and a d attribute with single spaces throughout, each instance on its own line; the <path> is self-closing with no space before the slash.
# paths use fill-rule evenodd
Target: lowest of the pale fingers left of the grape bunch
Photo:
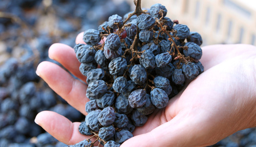
<path id="1" fill-rule="evenodd" d="M 89 138 L 89 136 L 82 135 L 78 131 L 80 123 L 72 123 L 64 116 L 53 111 L 38 113 L 35 122 L 54 138 L 66 145 L 73 145 Z"/>

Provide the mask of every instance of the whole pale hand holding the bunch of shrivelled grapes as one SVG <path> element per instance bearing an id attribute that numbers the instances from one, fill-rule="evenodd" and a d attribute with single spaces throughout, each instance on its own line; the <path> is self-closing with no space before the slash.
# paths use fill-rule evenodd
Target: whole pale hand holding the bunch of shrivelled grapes
<path id="1" fill-rule="evenodd" d="M 83 34 L 76 43 L 83 43 Z M 74 50 L 53 44 L 49 57 L 60 62 L 83 81 Z M 205 72 L 169 101 L 166 109 L 150 115 L 134 137 L 121 147 L 209 146 L 235 131 L 256 126 L 256 48 L 250 45 L 213 45 L 203 48 Z M 39 74 L 71 106 L 86 115 L 87 86 L 51 62 L 38 65 Z M 56 139 L 70 145 L 88 138 L 79 133 L 80 123 L 72 123 L 51 111 L 35 119 Z"/>

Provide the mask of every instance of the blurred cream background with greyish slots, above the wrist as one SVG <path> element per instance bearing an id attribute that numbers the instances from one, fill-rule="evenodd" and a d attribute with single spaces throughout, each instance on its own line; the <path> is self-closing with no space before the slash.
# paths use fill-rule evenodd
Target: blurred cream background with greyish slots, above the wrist
<path id="1" fill-rule="evenodd" d="M 256 0 L 142 0 L 166 6 L 171 20 L 189 26 L 203 38 L 203 46 L 219 43 L 256 45 Z"/>

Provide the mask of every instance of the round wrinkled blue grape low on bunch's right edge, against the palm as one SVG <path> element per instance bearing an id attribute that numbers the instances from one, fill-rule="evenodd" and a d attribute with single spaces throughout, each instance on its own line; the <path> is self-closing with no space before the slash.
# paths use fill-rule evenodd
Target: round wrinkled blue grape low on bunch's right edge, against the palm
<path id="1" fill-rule="evenodd" d="M 182 72 L 186 78 L 190 80 L 194 79 L 199 74 L 198 67 L 193 62 L 183 64 Z"/>

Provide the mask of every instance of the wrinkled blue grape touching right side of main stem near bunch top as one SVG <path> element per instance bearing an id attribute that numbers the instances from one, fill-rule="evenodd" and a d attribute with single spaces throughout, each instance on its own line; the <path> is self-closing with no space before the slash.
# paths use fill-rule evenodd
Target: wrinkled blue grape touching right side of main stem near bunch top
<path id="1" fill-rule="evenodd" d="M 149 29 L 155 23 L 155 19 L 148 14 L 141 14 L 137 17 L 137 26 L 141 30 Z"/>

